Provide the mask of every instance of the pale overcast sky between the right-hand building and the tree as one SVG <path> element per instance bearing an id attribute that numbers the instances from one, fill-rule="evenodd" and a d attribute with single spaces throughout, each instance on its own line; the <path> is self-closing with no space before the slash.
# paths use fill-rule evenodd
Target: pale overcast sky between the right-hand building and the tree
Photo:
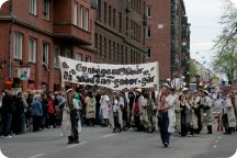
<path id="1" fill-rule="evenodd" d="M 184 0 L 191 23 L 191 58 L 211 68 L 213 41 L 221 33 L 219 18 L 224 0 Z M 233 0 L 237 7 L 237 0 Z M 211 68 L 212 69 L 212 68 Z"/>

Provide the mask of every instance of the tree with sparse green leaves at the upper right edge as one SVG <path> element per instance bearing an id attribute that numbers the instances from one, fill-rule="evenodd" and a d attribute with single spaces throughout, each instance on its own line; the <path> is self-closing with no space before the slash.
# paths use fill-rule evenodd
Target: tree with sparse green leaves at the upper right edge
<path id="1" fill-rule="evenodd" d="M 234 81 L 237 75 L 237 9 L 230 0 L 225 0 L 219 24 L 223 30 L 214 41 L 213 67 L 216 72 L 225 74 L 229 81 Z"/>

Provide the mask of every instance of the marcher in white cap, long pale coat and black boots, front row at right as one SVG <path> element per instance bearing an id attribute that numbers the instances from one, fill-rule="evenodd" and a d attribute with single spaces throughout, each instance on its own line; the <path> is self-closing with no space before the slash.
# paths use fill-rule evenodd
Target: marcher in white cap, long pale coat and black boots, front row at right
<path id="1" fill-rule="evenodd" d="M 212 124 L 213 124 L 213 101 L 210 98 L 207 90 L 202 91 L 202 104 L 203 104 L 203 124 L 207 127 L 207 134 L 212 134 Z"/>

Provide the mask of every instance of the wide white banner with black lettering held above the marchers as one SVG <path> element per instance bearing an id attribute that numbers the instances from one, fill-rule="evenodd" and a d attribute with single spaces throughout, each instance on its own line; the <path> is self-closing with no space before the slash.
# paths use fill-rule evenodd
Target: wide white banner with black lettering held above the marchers
<path id="1" fill-rule="evenodd" d="M 59 64 L 63 83 L 97 84 L 113 90 L 158 88 L 158 63 L 109 65 L 59 57 Z"/>

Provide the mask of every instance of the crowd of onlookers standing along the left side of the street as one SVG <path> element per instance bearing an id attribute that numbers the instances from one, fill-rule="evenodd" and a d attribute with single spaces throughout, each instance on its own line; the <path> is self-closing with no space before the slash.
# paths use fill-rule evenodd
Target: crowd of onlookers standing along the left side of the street
<path id="1" fill-rule="evenodd" d="M 4 90 L 0 95 L 0 135 L 11 137 L 60 126 L 60 95 L 43 91 L 15 94 L 13 90 Z"/>

